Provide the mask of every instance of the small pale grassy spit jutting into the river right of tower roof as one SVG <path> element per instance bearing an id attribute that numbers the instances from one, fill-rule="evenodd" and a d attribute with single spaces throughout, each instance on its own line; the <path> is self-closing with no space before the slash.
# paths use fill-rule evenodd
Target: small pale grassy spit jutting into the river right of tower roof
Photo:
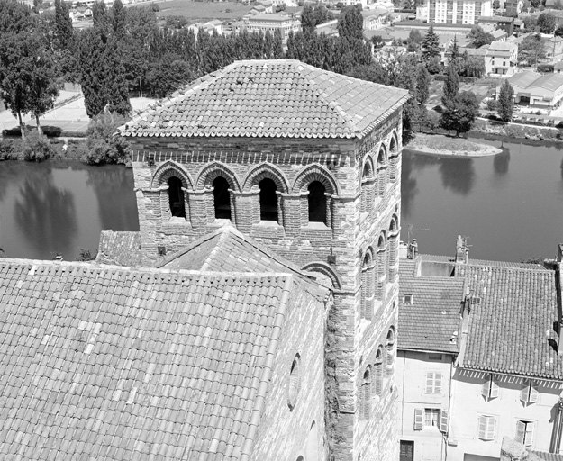
<path id="1" fill-rule="evenodd" d="M 502 149 L 494 146 L 464 138 L 449 138 L 441 134 L 424 133 L 416 133 L 405 148 L 426 155 L 461 158 L 487 157 L 502 152 Z"/>

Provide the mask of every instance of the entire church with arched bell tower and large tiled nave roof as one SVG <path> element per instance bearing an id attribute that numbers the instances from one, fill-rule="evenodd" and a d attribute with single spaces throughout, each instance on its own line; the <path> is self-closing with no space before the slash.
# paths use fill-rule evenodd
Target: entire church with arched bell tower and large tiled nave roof
<path id="1" fill-rule="evenodd" d="M 0 457 L 395 460 L 408 98 L 244 60 L 120 127 L 139 232 L 0 261 Z"/>

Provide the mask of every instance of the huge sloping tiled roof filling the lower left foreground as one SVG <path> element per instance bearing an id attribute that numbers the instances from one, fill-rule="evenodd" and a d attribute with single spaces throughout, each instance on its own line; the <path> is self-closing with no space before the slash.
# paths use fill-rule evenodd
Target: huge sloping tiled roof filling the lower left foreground
<path id="1" fill-rule="evenodd" d="M 0 458 L 247 459 L 294 277 L 0 260 Z"/>

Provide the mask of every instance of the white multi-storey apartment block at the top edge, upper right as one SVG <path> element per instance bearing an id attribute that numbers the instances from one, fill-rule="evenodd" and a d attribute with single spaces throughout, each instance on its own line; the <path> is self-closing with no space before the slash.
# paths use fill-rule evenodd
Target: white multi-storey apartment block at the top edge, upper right
<path id="1" fill-rule="evenodd" d="M 475 24 L 477 17 L 491 14 L 491 0 L 426 0 L 416 17 L 428 23 Z"/>

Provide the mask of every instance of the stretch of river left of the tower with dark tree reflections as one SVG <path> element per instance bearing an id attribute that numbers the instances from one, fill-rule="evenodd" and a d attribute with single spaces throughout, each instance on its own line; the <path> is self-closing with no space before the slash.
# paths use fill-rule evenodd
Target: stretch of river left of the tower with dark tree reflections
<path id="1" fill-rule="evenodd" d="M 0 162 L 0 248 L 11 258 L 76 259 L 100 230 L 139 230 L 132 169 Z"/>

